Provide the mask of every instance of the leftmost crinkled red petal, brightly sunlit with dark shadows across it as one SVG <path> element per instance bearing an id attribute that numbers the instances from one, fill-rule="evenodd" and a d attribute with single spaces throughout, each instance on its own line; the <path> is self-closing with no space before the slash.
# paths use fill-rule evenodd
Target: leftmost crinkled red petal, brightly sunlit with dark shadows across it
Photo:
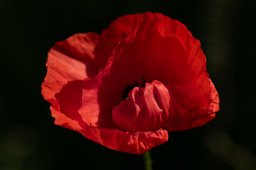
<path id="1" fill-rule="evenodd" d="M 78 109 L 82 103 L 82 81 L 87 77 L 86 61 L 94 57 L 97 38 L 95 33 L 75 34 L 57 42 L 48 52 L 42 94 L 53 104 L 50 110 L 56 125 L 77 131 L 86 126 Z"/>

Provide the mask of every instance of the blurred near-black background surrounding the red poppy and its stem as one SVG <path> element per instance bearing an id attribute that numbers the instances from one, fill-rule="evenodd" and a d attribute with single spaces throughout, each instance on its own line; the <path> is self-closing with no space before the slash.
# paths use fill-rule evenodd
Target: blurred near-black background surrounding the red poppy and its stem
<path id="1" fill-rule="evenodd" d="M 143 169 L 141 155 L 58 127 L 41 96 L 47 52 L 75 33 L 100 33 L 128 13 L 160 12 L 201 41 L 220 111 L 170 132 L 154 169 L 256 169 L 255 1 L 0 1 L 0 169 Z"/>

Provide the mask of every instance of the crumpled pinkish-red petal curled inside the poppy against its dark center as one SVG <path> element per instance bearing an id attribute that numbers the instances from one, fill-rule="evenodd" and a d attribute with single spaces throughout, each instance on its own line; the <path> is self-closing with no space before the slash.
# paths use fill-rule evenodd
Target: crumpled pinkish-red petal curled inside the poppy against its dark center
<path id="1" fill-rule="evenodd" d="M 144 83 L 143 83 L 144 82 Z M 144 86 L 143 86 L 144 85 Z M 125 91 L 132 89 L 127 87 Z M 170 115 L 171 95 L 160 81 L 135 86 L 128 93 L 128 100 L 120 101 L 112 110 L 116 125 L 131 132 L 154 131 L 164 128 Z"/>

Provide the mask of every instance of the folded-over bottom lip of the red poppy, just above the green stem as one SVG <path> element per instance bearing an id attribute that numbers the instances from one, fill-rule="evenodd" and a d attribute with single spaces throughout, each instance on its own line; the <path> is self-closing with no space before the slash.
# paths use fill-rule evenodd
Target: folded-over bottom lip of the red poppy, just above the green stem
<path id="1" fill-rule="evenodd" d="M 130 154 L 143 154 L 149 149 L 167 142 L 168 132 L 127 132 L 119 129 L 87 128 L 82 135 L 105 147 Z"/>

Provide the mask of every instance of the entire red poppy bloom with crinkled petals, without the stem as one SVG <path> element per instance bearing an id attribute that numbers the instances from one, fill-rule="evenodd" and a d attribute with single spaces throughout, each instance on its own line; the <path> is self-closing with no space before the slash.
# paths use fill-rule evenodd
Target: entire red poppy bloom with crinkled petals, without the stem
<path id="1" fill-rule="evenodd" d="M 219 109 L 200 42 L 161 13 L 122 16 L 102 35 L 57 42 L 46 66 L 42 94 L 55 124 L 122 152 L 142 154 Z"/>

